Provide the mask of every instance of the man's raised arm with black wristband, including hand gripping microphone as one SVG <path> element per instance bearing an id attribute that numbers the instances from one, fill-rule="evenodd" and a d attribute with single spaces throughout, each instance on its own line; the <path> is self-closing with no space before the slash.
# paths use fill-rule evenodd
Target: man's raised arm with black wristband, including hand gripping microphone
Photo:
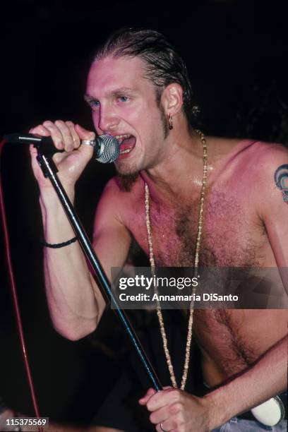
<path id="1" fill-rule="evenodd" d="M 59 178 L 73 203 L 76 180 L 92 156 L 92 148 L 85 145 L 77 148 L 79 138 L 92 139 L 94 134 L 80 126 L 65 126 L 64 122 L 45 122 L 44 126 L 38 126 L 31 132 L 44 135 L 44 127 L 47 128 L 46 134 L 52 136 L 58 148 L 61 148 L 60 141 L 64 143 L 63 147 L 68 151 L 56 153 L 54 162 L 59 169 Z M 73 147 L 73 142 L 76 147 Z M 44 179 L 38 167 L 35 149 L 31 148 L 30 151 L 33 171 L 40 185 L 44 238 L 51 244 L 61 243 L 73 238 L 75 234 L 54 189 L 49 180 Z M 97 211 L 95 226 L 99 224 L 99 229 L 95 229 L 93 242 L 108 277 L 112 266 L 121 267 L 124 264 L 130 245 L 128 231 L 115 213 L 119 205 L 115 205 L 114 198 L 116 199 L 115 187 L 109 184 Z M 109 245 L 110 241 L 113 241 L 112 245 Z M 109 253 L 112 250 L 113 254 Z M 78 242 L 64 248 L 44 248 L 44 275 L 49 311 L 56 330 L 71 340 L 77 340 L 95 330 L 105 303 L 90 275 Z"/>

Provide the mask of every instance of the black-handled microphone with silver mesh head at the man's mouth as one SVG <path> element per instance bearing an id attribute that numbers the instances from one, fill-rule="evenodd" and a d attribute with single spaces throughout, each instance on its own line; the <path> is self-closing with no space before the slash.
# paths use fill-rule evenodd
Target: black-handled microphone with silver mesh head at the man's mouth
<path id="1" fill-rule="evenodd" d="M 41 148 L 42 151 L 49 152 L 49 155 L 64 151 L 55 148 L 51 136 L 36 136 L 32 135 L 32 133 L 10 133 L 5 135 L 4 139 L 8 143 L 34 144 L 35 147 Z M 95 159 L 103 164 L 114 162 L 120 154 L 119 141 L 112 135 L 100 135 L 95 140 L 82 140 L 81 144 L 91 145 L 94 149 Z"/>

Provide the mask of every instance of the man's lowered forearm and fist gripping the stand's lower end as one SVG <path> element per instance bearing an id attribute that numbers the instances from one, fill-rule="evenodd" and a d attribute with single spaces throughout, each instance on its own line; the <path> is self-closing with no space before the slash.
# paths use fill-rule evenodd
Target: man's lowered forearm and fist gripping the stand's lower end
<path id="1" fill-rule="evenodd" d="M 196 397 L 182 390 L 149 389 L 139 400 L 152 413 L 150 421 L 157 431 L 208 432 L 233 416 L 270 399 L 287 388 L 287 337 L 277 342 L 244 373 L 210 392 Z M 259 391 L 259 389 L 261 389 Z"/>

